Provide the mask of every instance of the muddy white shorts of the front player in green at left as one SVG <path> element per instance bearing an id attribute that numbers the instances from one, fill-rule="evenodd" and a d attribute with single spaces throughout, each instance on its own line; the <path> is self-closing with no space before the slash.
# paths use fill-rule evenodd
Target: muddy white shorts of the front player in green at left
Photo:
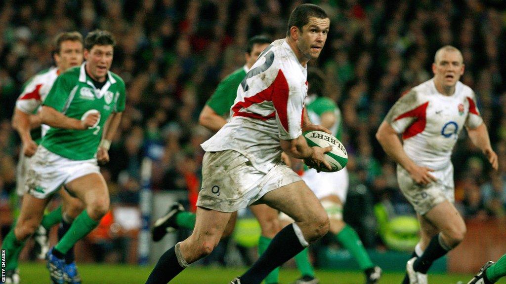
<path id="1" fill-rule="evenodd" d="M 70 160 L 39 146 L 28 170 L 27 191 L 36 198 L 44 199 L 57 192 L 63 184 L 90 173 L 100 174 L 97 159 Z"/>

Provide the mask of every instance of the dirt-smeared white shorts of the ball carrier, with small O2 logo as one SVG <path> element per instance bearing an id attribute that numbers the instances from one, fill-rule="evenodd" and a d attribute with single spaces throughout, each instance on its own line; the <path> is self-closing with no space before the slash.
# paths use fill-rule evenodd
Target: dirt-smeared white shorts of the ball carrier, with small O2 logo
<path id="1" fill-rule="evenodd" d="M 263 173 L 236 151 L 206 152 L 197 206 L 235 212 L 254 204 L 270 191 L 301 180 L 284 163 Z"/>

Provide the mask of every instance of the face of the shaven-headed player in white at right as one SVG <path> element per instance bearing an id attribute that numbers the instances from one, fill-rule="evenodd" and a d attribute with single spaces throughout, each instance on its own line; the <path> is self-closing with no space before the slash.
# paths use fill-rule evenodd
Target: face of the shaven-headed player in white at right
<path id="1" fill-rule="evenodd" d="M 437 62 L 432 64 L 436 84 L 453 87 L 464 73 L 462 56 L 457 51 L 442 51 Z"/>

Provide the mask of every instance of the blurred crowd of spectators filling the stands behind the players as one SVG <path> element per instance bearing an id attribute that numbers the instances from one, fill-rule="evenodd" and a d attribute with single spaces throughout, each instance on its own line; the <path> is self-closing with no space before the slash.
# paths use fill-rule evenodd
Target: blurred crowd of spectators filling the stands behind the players
<path id="1" fill-rule="evenodd" d="M 478 0 L 321 0 L 331 19 L 318 62 L 326 92 L 344 119 L 351 191 L 365 185 L 375 202 L 409 204 L 401 198 L 395 163 L 374 138 L 393 103 L 432 77 L 437 49 L 462 51 L 462 82 L 476 91 L 478 108 L 499 157 L 499 171 L 469 139 L 455 147 L 456 203 L 468 218 L 506 217 L 506 12 Z M 209 136 L 198 126 L 205 101 L 224 76 L 244 64 L 253 35 L 285 36 L 291 0 L 5 0 L 0 7 L 0 193 L 7 206 L 15 194 L 20 140 L 10 119 L 23 83 L 52 64 L 52 42 L 61 31 L 85 36 L 114 34 L 112 71 L 127 90 L 126 109 L 102 168 L 113 203 L 137 205 L 141 158 L 148 141 L 164 146 L 153 167 L 155 191 L 199 188 Z M 466 135 L 463 133 L 463 135 Z M 363 186 L 361 187 L 363 188 Z M 12 210 L 14 210 L 12 208 Z M 351 209 L 353 210 L 353 209 Z M 361 209 L 360 209 L 361 210 Z M 401 212 L 402 213 L 402 212 Z M 363 236 L 362 232 L 362 236 Z M 374 243 L 365 241 L 373 246 Z"/>

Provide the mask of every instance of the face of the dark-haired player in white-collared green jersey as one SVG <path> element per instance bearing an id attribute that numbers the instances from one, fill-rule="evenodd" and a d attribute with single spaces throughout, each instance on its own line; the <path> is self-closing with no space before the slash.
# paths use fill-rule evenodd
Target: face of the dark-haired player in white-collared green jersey
<path id="1" fill-rule="evenodd" d="M 93 45 L 91 50 L 85 50 L 87 61 L 86 70 L 94 77 L 93 79 L 102 82 L 111 68 L 114 48 L 112 45 Z"/>

